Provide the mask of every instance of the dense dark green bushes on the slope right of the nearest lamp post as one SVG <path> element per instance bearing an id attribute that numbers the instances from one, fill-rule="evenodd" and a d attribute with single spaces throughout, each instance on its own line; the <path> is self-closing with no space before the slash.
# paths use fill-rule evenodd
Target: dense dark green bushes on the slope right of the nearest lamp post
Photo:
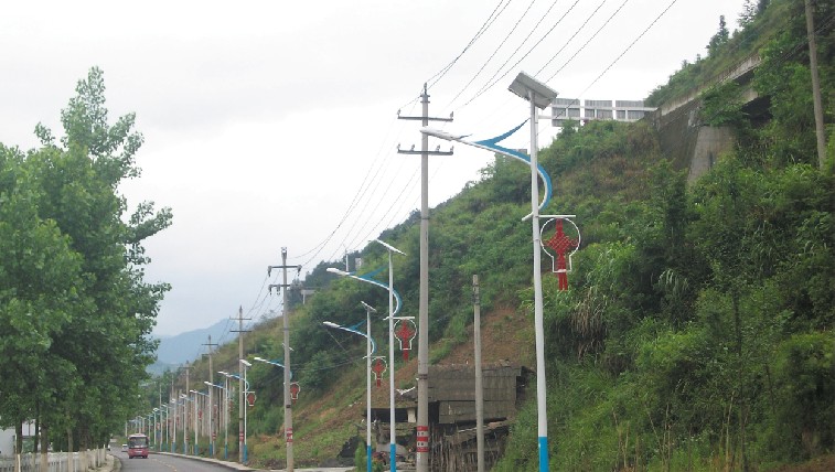
<path id="1" fill-rule="evenodd" d="M 762 3 L 748 24 L 771 28 L 772 11 L 785 15 L 800 3 Z M 804 41 L 801 20 L 786 17 L 790 28 L 762 52 L 756 74 L 771 98 L 766 126 L 748 121 L 734 86 L 705 95 L 704 119 L 730 126 L 740 141 L 700 181 L 687 186 L 668 165 L 643 160 L 644 189 L 619 212 L 603 203 L 618 196 L 592 194 L 606 185 L 571 192 L 578 208 L 595 208 L 580 218 L 595 233 L 575 257 L 571 290 L 544 283 L 558 468 L 746 470 L 835 447 L 835 181 L 814 165 L 805 58 L 789 53 Z M 584 133 L 600 146 L 615 128 L 584 127 L 543 152 L 552 165 L 567 165 L 563 189 L 574 189 L 575 176 L 599 179 L 572 172 L 575 162 L 630 157 L 617 147 L 571 154 Z M 520 293 L 529 310 L 532 291 Z M 535 468 L 532 404 L 496 470 Z"/>

